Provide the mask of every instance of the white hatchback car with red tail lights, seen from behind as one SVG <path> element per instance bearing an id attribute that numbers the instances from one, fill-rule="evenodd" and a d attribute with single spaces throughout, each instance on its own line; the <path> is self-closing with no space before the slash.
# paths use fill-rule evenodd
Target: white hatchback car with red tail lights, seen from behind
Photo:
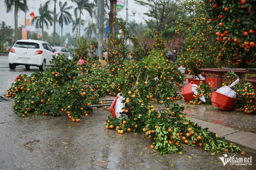
<path id="1" fill-rule="evenodd" d="M 55 55 L 49 43 L 39 40 L 18 40 L 9 52 L 9 68 L 15 69 L 16 66 L 25 65 L 37 66 L 39 70 L 44 71 L 46 66 L 51 66 L 49 61 Z"/>

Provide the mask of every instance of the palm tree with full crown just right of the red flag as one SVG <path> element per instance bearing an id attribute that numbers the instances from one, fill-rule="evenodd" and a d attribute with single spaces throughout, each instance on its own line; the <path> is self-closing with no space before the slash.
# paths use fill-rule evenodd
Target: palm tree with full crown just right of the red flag
<path id="1" fill-rule="evenodd" d="M 39 16 L 35 17 L 35 19 L 31 21 L 31 24 L 36 23 L 36 28 L 42 28 L 41 40 L 44 40 L 44 24 L 47 29 L 49 29 L 49 24 L 51 26 L 53 25 L 52 13 L 52 11 L 48 10 L 47 6 L 42 6 L 41 3 L 39 8 Z"/>

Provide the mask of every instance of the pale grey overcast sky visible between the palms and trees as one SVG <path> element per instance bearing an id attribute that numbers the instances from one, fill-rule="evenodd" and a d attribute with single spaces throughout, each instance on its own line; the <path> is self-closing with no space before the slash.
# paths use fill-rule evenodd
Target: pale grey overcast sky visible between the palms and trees
<path id="1" fill-rule="evenodd" d="M 26 13 L 26 19 L 30 19 L 30 21 L 31 21 L 32 18 L 29 16 L 29 14 L 31 12 L 34 12 L 35 16 L 38 16 L 38 14 L 39 14 L 38 9 L 40 7 L 40 3 L 42 3 L 42 5 L 43 5 L 46 1 L 47 0 L 27 0 L 28 12 Z M 66 0 L 61 0 L 61 1 L 64 3 Z M 121 1 L 124 1 L 124 0 L 121 0 Z M 138 4 L 134 3 L 134 0 L 128 0 L 128 5 L 129 5 L 128 14 L 132 14 L 132 12 L 131 12 L 132 9 L 137 10 L 136 16 L 135 17 L 130 17 L 129 16 L 128 20 L 134 19 L 134 20 L 136 20 L 137 23 L 140 23 L 140 22 L 145 23 L 143 18 L 140 17 L 140 16 L 144 16 L 143 13 L 147 11 L 147 8 L 143 7 L 143 6 L 139 6 Z M 73 8 L 74 8 L 75 3 L 68 0 L 68 6 L 73 6 Z M 53 2 L 51 3 L 50 8 L 53 11 L 53 9 L 54 9 L 54 3 Z M 1 11 L 0 21 L 6 22 L 6 24 L 8 26 L 11 26 L 13 28 L 14 27 L 14 7 L 13 7 L 11 12 L 6 13 L 6 7 L 5 7 L 5 4 L 4 4 L 4 0 L 0 0 L 0 11 Z M 58 0 L 57 3 L 56 3 L 56 12 L 58 13 L 59 11 L 60 10 L 59 10 L 59 0 Z M 70 13 L 74 14 L 74 10 L 73 9 L 70 10 Z M 22 25 L 25 24 L 25 13 L 23 11 L 19 11 L 18 16 L 19 16 L 18 17 L 18 27 L 19 27 L 21 24 Z M 123 10 L 117 12 L 117 16 L 119 16 L 123 19 L 126 19 L 126 9 L 125 9 L 125 7 L 124 7 Z M 86 13 L 86 12 L 84 12 L 84 16 L 82 16 L 82 19 L 84 19 L 86 21 L 90 21 L 90 22 L 92 21 L 89 14 Z M 30 31 L 35 30 L 34 26 L 29 26 L 29 27 L 26 27 L 26 28 L 28 28 L 28 30 L 30 30 Z M 46 28 L 44 30 L 47 31 Z M 63 28 L 63 30 L 64 30 L 64 28 Z M 49 28 L 48 31 L 53 32 L 53 27 Z"/>

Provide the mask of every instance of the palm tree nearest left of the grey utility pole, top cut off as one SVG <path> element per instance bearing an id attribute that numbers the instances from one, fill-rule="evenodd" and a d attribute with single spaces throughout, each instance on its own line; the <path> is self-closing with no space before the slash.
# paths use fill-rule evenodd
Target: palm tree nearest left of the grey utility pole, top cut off
<path id="1" fill-rule="evenodd" d="M 77 16 L 77 11 L 79 11 L 79 33 L 78 39 L 80 38 L 80 30 L 81 30 L 81 14 L 83 15 L 82 10 L 85 9 L 89 12 L 90 16 L 92 17 L 92 7 L 93 3 L 90 3 L 89 0 L 72 0 L 77 4 L 77 7 L 74 9 L 75 16 Z"/>

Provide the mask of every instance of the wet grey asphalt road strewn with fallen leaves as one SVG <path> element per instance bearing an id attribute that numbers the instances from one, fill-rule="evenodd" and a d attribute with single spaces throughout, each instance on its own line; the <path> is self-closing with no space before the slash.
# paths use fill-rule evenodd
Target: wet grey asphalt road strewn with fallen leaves
<path id="1" fill-rule="evenodd" d="M 25 70 L 25 66 L 10 70 L 8 58 L 0 56 L 0 96 L 6 94 L 16 76 L 30 75 L 35 70 L 38 68 Z M 105 129 L 103 123 L 110 115 L 108 108 L 94 109 L 76 123 L 67 114 L 60 117 L 29 114 L 27 119 L 18 118 L 12 104 L 0 102 L 0 169 L 3 170 L 256 169 L 254 155 L 236 155 L 252 156 L 252 166 L 223 166 L 218 157 L 235 153 L 211 155 L 200 147 L 185 144 L 182 154 L 161 156 L 150 149 L 151 141 L 145 134 L 118 134 Z M 33 150 L 26 147 L 30 144 Z"/>

